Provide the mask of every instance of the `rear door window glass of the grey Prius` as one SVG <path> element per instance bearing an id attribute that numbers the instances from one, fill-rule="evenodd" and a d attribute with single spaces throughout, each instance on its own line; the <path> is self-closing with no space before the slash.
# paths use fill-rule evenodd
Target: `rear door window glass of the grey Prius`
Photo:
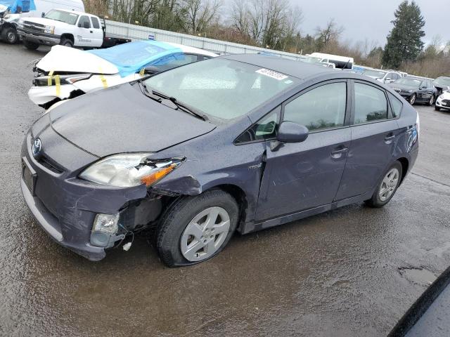
<path id="1" fill-rule="evenodd" d="M 387 119 L 386 95 L 367 84 L 354 84 L 354 124 Z"/>

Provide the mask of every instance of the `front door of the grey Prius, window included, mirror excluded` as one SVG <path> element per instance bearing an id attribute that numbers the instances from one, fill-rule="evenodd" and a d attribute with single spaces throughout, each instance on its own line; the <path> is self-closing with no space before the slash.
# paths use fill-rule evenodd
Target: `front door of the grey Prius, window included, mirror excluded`
<path id="1" fill-rule="evenodd" d="M 347 82 L 333 81 L 283 104 L 282 120 L 307 126 L 310 133 L 304 142 L 286 143 L 274 151 L 266 142 L 256 220 L 333 201 L 350 145 L 347 101 Z"/>

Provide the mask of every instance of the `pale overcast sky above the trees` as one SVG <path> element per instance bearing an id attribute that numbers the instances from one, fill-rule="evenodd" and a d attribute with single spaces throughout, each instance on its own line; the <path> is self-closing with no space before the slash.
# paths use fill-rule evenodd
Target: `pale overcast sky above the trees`
<path id="1" fill-rule="evenodd" d="M 394 11 L 401 0 L 290 0 L 302 8 L 304 20 L 300 25 L 302 34 L 314 34 L 317 26 L 324 27 L 330 18 L 345 27 L 342 39 L 377 41 L 386 43 L 392 29 Z M 425 18 L 425 37 L 428 43 L 435 35 L 442 42 L 450 41 L 450 0 L 416 0 Z"/>

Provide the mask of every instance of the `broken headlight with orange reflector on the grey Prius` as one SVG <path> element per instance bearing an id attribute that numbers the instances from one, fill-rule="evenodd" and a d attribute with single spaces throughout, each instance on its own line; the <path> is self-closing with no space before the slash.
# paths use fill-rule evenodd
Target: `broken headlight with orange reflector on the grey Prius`
<path id="1" fill-rule="evenodd" d="M 82 171 L 79 178 L 115 187 L 147 187 L 174 171 L 183 158 L 148 159 L 150 153 L 124 153 L 105 157 Z"/>

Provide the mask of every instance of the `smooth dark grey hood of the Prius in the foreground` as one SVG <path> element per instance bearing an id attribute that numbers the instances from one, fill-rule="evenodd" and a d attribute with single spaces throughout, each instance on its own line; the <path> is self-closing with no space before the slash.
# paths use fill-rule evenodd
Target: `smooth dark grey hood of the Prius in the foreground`
<path id="1" fill-rule="evenodd" d="M 158 152 L 216 127 L 146 97 L 138 84 L 69 100 L 51 110 L 50 121 L 60 136 L 97 157 Z"/>

